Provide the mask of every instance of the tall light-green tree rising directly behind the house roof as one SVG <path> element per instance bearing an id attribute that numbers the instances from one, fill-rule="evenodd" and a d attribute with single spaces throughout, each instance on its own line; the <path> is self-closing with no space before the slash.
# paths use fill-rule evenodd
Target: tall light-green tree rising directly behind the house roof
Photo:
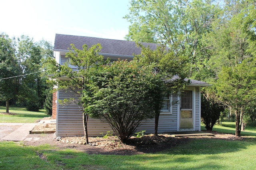
<path id="1" fill-rule="evenodd" d="M 203 74 L 208 56 L 202 39 L 220 14 L 218 5 L 210 0 L 131 0 L 129 10 L 126 39 L 167 45 L 189 58 L 190 76 Z"/>

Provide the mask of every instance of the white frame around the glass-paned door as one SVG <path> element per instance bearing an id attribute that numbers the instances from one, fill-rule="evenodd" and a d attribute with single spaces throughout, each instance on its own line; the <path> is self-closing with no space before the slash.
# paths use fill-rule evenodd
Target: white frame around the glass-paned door
<path id="1" fill-rule="evenodd" d="M 192 121 L 193 128 L 180 128 L 180 95 L 178 95 L 178 104 L 177 104 L 177 131 L 195 131 L 196 129 L 196 88 L 188 87 L 185 90 L 192 91 Z"/>

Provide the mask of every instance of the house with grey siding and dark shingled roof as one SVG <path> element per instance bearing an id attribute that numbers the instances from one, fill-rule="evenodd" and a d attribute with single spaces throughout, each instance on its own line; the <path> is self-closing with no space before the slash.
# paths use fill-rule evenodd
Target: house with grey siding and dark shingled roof
<path id="1" fill-rule="evenodd" d="M 54 42 L 54 55 L 56 62 L 63 64 L 67 61 L 65 57 L 70 44 L 76 48 L 82 49 L 82 45 L 88 47 L 100 43 L 102 50 L 99 53 L 111 61 L 118 59 L 132 60 L 134 55 L 140 54 L 140 49 L 132 41 L 122 41 L 113 39 L 102 39 L 94 37 L 83 37 L 74 35 L 56 34 Z M 145 47 L 156 49 L 158 44 L 142 43 Z M 175 77 L 174 77 L 175 78 Z M 171 80 L 170 80 L 171 81 Z M 200 87 L 210 86 L 206 82 L 190 80 L 184 94 L 176 96 L 166 96 L 166 104 L 159 117 L 158 133 L 171 131 L 200 131 L 201 112 L 200 112 Z M 55 86 L 54 88 L 58 88 Z M 83 121 L 81 107 L 78 105 L 62 106 L 58 100 L 65 98 L 74 98 L 72 92 L 58 90 L 53 94 L 53 112 L 52 117 L 56 118 L 56 136 L 70 137 L 83 136 Z M 173 101 L 179 101 L 175 105 L 170 105 Z M 99 136 L 100 133 L 106 133 L 112 129 L 107 123 L 98 119 L 89 118 L 88 136 Z M 154 119 L 147 119 L 142 122 L 137 131 L 146 130 L 147 133 L 154 133 Z"/>

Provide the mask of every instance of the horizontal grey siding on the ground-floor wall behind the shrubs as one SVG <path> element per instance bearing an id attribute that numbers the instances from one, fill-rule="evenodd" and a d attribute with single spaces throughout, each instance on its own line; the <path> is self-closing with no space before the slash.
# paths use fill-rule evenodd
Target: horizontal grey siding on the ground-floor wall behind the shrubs
<path id="1" fill-rule="evenodd" d="M 71 92 L 59 91 L 59 100 L 64 98 L 74 98 Z M 196 131 L 200 131 L 200 118 L 199 118 L 199 88 L 196 88 Z M 173 98 L 173 100 L 177 100 Z M 83 136 L 84 128 L 82 121 L 82 109 L 78 105 L 58 106 L 57 114 L 57 131 L 56 135 L 60 137 Z M 158 123 L 158 133 L 177 131 L 177 104 L 172 106 L 171 113 L 161 113 Z M 142 124 L 136 131 L 146 130 L 146 133 L 154 133 L 154 119 L 147 119 L 142 121 Z M 108 123 L 102 122 L 98 119 L 88 119 L 88 136 L 97 137 L 101 136 L 100 133 L 106 134 L 111 131 Z"/>

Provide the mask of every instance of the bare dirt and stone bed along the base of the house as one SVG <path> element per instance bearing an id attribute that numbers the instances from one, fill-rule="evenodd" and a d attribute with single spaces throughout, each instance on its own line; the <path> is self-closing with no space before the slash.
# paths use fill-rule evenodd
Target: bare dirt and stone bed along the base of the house
<path id="1" fill-rule="evenodd" d="M 38 140 L 24 141 L 25 145 L 38 146 L 48 144 L 56 146 L 58 149 L 76 149 L 88 154 L 116 154 L 116 155 L 132 155 L 143 153 L 155 153 L 163 150 L 170 150 L 172 147 L 184 145 L 188 141 L 196 138 L 210 138 L 223 140 L 243 140 L 232 134 L 223 134 L 216 132 L 214 136 L 189 136 L 189 137 L 172 137 L 172 135 L 161 134 L 154 136 L 152 134 L 145 135 L 141 138 L 131 137 L 124 144 L 117 137 L 111 136 L 107 139 L 102 137 L 89 137 L 88 145 L 83 145 L 84 137 L 63 137 L 58 141 L 54 134 L 30 134 Z"/>

